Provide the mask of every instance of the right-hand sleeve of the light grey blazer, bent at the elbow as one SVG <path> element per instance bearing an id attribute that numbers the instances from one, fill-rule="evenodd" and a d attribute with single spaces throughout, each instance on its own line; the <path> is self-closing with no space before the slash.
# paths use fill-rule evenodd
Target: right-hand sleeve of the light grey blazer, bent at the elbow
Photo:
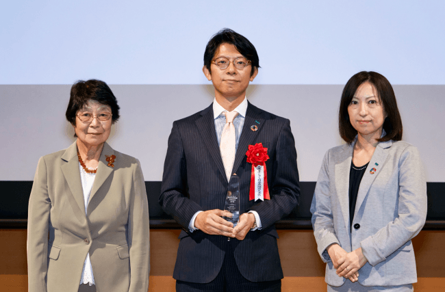
<path id="1" fill-rule="evenodd" d="M 398 163 L 398 217 L 360 242 L 374 266 L 418 235 L 427 218 L 427 183 L 416 147 L 407 146 Z"/>

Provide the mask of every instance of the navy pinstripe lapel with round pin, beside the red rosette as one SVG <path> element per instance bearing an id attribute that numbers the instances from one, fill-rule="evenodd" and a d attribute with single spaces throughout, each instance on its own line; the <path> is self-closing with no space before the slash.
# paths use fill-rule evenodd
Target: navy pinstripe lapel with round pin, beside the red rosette
<path id="1" fill-rule="evenodd" d="M 238 143 L 238 148 L 236 150 L 235 161 L 233 162 L 231 174 L 238 171 L 242 159 L 246 157 L 246 152 L 249 150 L 249 144 L 253 143 L 253 140 L 255 140 L 255 137 L 257 137 L 264 124 L 261 109 L 251 105 L 249 101 L 247 103 L 246 118 L 244 119 L 244 125 L 242 126 L 240 142 Z M 257 126 L 257 131 L 251 130 L 251 126 L 253 125 Z"/>

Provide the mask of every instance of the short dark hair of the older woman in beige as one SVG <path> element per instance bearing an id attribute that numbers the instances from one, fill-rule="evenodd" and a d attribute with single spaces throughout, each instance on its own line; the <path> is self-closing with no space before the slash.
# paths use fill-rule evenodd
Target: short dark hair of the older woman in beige
<path id="1" fill-rule="evenodd" d="M 110 87 L 103 81 L 90 79 L 76 81 L 71 86 L 70 101 L 65 113 L 66 120 L 75 126 L 77 111 L 90 100 L 111 107 L 113 124 L 119 119 L 120 107 Z"/>

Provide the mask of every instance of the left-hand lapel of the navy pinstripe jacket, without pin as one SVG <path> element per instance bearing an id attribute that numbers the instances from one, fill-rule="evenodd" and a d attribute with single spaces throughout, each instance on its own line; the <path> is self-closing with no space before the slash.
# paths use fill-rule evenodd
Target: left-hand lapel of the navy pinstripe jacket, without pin
<path id="1" fill-rule="evenodd" d="M 218 138 L 216 137 L 215 122 L 213 116 L 213 103 L 207 109 L 201 111 L 201 117 L 196 121 L 196 127 L 198 127 L 203 137 L 205 146 L 212 155 L 218 170 L 223 174 L 227 181 L 227 176 L 224 170 L 223 159 L 221 159 L 221 152 L 218 146 Z"/>

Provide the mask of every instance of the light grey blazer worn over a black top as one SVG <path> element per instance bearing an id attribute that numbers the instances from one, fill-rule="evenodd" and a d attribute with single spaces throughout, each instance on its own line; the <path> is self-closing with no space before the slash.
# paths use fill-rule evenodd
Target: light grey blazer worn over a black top
<path id="1" fill-rule="evenodd" d="M 338 243 L 346 252 L 363 250 L 368 263 L 359 269 L 359 283 L 364 286 L 417 282 L 411 239 L 427 217 L 427 183 L 419 152 L 403 141 L 377 145 L 357 194 L 352 225 L 359 228 L 351 230 L 348 191 L 354 144 L 326 153 L 312 199 L 314 235 L 327 263 L 325 280 L 336 287 L 346 280 L 335 274 L 326 251 Z"/>

